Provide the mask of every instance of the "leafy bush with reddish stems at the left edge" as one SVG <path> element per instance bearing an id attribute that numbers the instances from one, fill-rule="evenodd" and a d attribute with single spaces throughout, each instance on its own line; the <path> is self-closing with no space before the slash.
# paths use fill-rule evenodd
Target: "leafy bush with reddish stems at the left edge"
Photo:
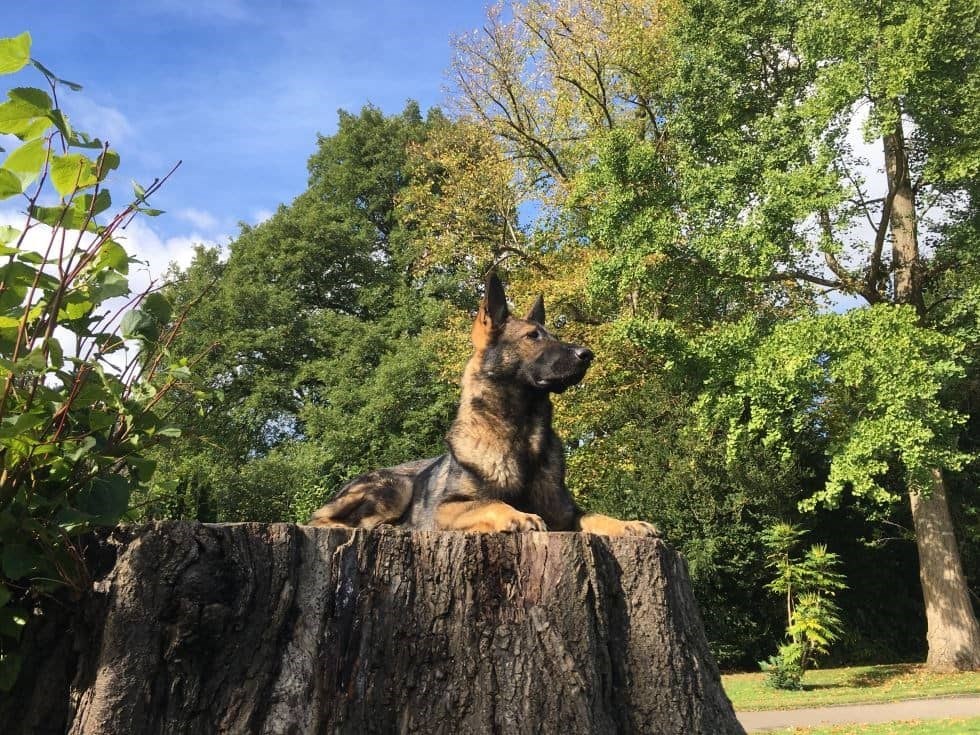
<path id="1" fill-rule="evenodd" d="M 79 534 L 114 525 L 152 481 L 144 451 L 178 430 L 155 407 L 187 373 L 167 347 L 182 321 L 159 293 L 133 294 L 133 258 L 116 234 L 166 180 L 115 215 L 106 177 L 119 156 L 75 130 L 58 93 L 78 85 L 30 58 L 31 38 L 0 39 L 0 74 L 32 64 L 47 90 L 14 87 L 0 133 L 0 199 L 24 205 L 0 227 L 0 690 L 20 668 L 19 639 L 39 596 L 80 590 Z M 169 176 L 169 174 L 168 174 Z"/>

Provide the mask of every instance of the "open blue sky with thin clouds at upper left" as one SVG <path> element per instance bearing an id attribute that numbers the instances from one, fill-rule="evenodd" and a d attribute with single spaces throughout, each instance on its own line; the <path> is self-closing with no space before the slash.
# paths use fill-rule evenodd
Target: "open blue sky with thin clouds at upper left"
<path id="1" fill-rule="evenodd" d="M 130 228 L 157 270 L 302 192 L 339 108 L 440 104 L 450 38 L 484 12 L 481 0 L 51 0 L 7 3 L 2 35 L 29 31 L 32 56 L 83 85 L 62 101 L 122 156 L 117 201 L 183 161 L 153 202 L 167 213 Z M 25 70 L 0 91 L 42 82 Z"/>

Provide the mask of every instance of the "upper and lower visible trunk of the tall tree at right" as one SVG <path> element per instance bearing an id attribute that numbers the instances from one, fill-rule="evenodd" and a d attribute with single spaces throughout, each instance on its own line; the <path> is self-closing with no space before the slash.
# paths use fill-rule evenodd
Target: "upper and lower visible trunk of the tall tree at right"
<path id="1" fill-rule="evenodd" d="M 901 116 L 895 131 L 885 136 L 884 146 L 888 191 L 893 197 L 890 224 L 895 301 L 910 304 L 921 317 L 925 313 L 925 302 L 919 274 L 915 192 L 910 180 Z M 929 645 L 926 664 L 936 671 L 980 669 L 980 626 L 973 614 L 963 575 L 946 485 L 940 469 L 933 469 L 932 476 L 929 497 L 909 493 L 919 549 L 919 579 L 926 606 Z"/>

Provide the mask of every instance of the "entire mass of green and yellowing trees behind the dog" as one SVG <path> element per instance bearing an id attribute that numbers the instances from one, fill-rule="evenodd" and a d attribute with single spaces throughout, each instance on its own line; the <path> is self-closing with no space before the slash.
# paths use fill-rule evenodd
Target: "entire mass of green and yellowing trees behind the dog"
<path id="1" fill-rule="evenodd" d="M 681 547 L 723 664 L 772 652 L 762 539 L 802 522 L 880 593 L 841 595 L 853 655 L 921 654 L 927 616 L 931 663 L 980 665 L 975 10 L 494 6 L 449 112 L 341 111 L 305 193 L 176 274 L 213 283 L 179 348 L 217 397 L 172 399 L 147 512 L 305 520 L 441 452 L 495 265 L 596 352 L 569 486 Z"/>

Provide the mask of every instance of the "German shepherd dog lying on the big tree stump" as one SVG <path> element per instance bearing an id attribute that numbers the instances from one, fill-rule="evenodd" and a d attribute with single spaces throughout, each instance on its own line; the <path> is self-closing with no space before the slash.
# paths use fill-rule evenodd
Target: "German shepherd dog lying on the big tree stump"
<path id="1" fill-rule="evenodd" d="M 585 376 L 593 354 L 544 326 L 539 296 L 510 316 L 496 274 L 473 323 L 449 451 L 356 477 L 310 519 L 313 526 L 392 524 L 455 531 L 585 531 L 655 536 L 644 521 L 583 514 L 565 487 L 565 456 L 551 428 L 551 393 Z"/>

